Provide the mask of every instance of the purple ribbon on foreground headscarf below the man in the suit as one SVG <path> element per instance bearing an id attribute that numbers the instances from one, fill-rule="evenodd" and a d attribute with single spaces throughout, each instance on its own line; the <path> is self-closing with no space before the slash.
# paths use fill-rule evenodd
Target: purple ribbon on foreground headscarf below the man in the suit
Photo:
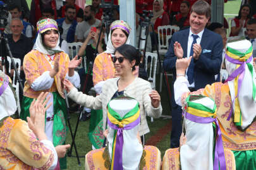
<path id="1" fill-rule="evenodd" d="M 226 170 L 226 159 L 224 155 L 224 149 L 222 144 L 222 136 L 221 136 L 221 129 L 219 128 L 219 122 L 217 118 L 211 118 L 211 117 L 200 117 L 192 115 L 186 111 L 183 111 L 183 116 L 187 118 L 188 120 L 195 122 L 195 123 L 216 123 L 216 131 L 217 131 L 217 140 L 215 145 L 215 153 L 214 153 L 214 170 Z"/>

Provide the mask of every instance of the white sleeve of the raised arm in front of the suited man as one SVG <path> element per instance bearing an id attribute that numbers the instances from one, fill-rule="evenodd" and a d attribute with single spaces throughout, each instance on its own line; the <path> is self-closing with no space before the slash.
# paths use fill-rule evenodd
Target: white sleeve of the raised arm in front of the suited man
<path id="1" fill-rule="evenodd" d="M 182 94 L 186 92 L 190 92 L 188 89 L 188 80 L 185 77 L 178 77 L 176 81 L 174 82 L 173 88 L 174 88 L 174 98 L 177 105 L 182 106 L 181 103 L 181 97 Z"/>

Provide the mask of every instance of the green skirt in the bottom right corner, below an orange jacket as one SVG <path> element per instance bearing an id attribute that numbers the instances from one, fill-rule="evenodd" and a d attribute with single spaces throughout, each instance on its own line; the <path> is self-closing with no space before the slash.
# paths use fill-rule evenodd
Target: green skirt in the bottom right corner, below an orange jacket
<path id="1" fill-rule="evenodd" d="M 256 170 L 256 150 L 232 150 L 236 159 L 236 169 Z"/>

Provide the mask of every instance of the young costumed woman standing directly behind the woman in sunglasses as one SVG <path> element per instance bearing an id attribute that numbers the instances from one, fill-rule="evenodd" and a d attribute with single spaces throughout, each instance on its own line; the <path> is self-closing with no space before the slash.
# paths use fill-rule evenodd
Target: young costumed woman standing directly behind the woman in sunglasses
<path id="1" fill-rule="evenodd" d="M 97 94 L 101 94 L 102 84 L 107 79 L 116 77 L 116 71 L 114 64 L 111 60 L 111 54 L 114 54 L 114 50 L 123 44 L 130 44 L 130 26 L 122 20 L 116 20 L 111 23 L 110 33 L 107 42 L 107 50 L 97 55 L 94 60 L 92 81 L 94 82 L 94 88 Z M 99 149 L 104 142 L 103 130 L 102 130 L 102 110 L 92 110 L 90 118 L 90 132 L 88 133 L 89 139 L 92 145 Z"/>

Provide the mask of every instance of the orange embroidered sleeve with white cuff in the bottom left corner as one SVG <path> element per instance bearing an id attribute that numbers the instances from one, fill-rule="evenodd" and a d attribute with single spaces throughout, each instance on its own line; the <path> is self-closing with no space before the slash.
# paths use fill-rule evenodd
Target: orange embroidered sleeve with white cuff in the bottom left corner
<path id="1" fill-rule="evenodd" d="M 51 142 L 48 140 L 40 142 L 25 121 L 16 121 L 18 122 L 9 133 L 7 149 L 28 166 L 37 169 L 54 169 L 58 157 Z"/>

